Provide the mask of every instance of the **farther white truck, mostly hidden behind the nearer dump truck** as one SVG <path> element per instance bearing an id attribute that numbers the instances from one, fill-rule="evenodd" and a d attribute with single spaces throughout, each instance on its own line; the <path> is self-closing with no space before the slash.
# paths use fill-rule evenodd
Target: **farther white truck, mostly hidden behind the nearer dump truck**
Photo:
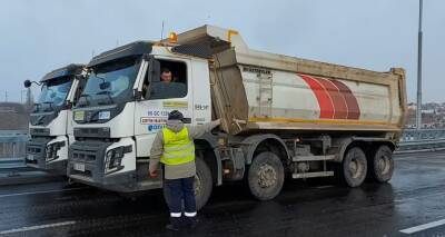
<path id="1" fill-rule="evenodd" d="M 30 115 L 26 165 L 67 175 L 68 147 L 75 141 L 71 107 L 80 96 L 83 65 L 68 65 L 47 73 L 39 99 Z M 24 81 L 24 87 L 32 83 Z"/>

